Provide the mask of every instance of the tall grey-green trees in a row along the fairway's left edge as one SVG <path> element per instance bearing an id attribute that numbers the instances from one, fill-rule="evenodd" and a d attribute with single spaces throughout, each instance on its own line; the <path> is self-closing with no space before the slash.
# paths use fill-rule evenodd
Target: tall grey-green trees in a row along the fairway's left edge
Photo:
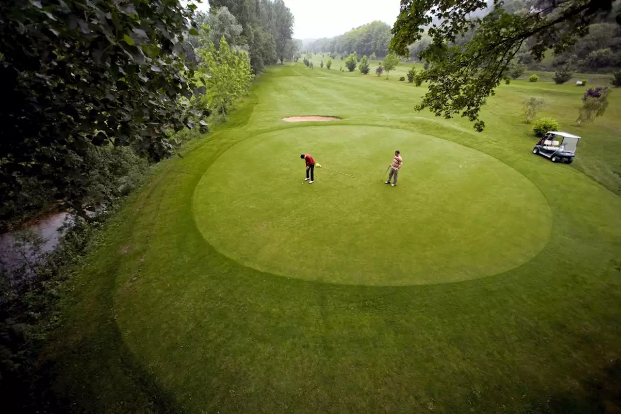
<path id="1" fill-rule="evenodd" d="M 209 6 L 212 12 L 226 7 L 235 17 L 238 24 L 235 39 L 221 31 L 214 37 L 220 39 L 224 35 L 229 45 L 247 50 L 254 73 L 260 73 L 266 65 L 277 61 L 293 59 L 299 44 L 291 37 L 294 17 L 283 0 L 209 0 Z"/>

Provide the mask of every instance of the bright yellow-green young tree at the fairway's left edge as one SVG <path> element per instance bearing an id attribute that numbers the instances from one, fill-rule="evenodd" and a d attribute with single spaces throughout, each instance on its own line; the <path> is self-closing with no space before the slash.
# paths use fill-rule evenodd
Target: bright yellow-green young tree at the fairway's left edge
<path id="1" fill-rule="evenodd" d="M 253 78 L 248 54 L 243 50 L 232 50 L 224 36 L 220 39 L 219 49 L 210 44 L 199 53 L 209 74 L 205 96 L 207 107 L 225 118 L 232 104 L 247 92 Z"/>

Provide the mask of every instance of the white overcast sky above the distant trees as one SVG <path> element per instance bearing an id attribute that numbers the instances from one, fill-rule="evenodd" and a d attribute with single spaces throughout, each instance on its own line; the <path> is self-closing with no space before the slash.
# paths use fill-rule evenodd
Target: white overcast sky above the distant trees
<path id="1" fill-rule="evenodd" d="M 284 0 L 296 24 L 296 39 L 319 39 L 343 34 L 360 25 L 380 20 L 392 24 L 399 14 L 399 0 Z M 207 10 L 207 0 L 199 9 Z"/>

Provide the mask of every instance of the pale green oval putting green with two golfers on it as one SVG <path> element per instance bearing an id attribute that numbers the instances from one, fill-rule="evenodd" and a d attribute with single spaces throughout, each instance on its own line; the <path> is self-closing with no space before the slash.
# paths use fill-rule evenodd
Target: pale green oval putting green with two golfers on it
<path id="1" fill-rule="evenodd" d="M 399 185 L 382 173 L 401 150 Z M 323 167 L 303 181 L 308 152 Z M 384 175 L 385 180 L 386 175 Z M 286 277 L 355 285 L 457 282 L 518 267 L 543 249 L 542 193 L 477 150 L 398 129 L 309 126 L 229 149 L 194 193 L 218 251 Z"/>

